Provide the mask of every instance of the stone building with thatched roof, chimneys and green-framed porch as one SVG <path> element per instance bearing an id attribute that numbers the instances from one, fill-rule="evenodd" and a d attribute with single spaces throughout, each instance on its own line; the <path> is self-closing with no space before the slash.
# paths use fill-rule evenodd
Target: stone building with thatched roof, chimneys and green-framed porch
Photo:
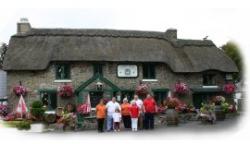
<path id="1" fill-rule="evenodd" d="M 84 102 L 88 94 L 92 107 L 102 97 L 132 98 L 139 80 L 150 85 L 160 103 L 180 80 L 192 90 L 185 101 L 199 107 L 221 93 L 231 74 L 238 72 L 212 41 L 178 39 L 175 29 L 41 29 L 31 27 L 28 21 L 17 23 L 3 68 L 10 109 L 18 101 L 12 88 L 19 81 L 29 89 L 25 96 L 28 104 L 46 93 L 53 109 L 68 102 Z M 64 83 L 73 85 L 74 97 L 57 96 L 58 86 Z"/>

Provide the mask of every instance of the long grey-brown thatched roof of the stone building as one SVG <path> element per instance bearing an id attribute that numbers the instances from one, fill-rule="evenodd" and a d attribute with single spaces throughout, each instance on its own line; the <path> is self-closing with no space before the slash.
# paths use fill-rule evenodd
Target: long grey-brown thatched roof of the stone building
<path id="1" fill-rule="evenodd" d="M 44 70 L 53 61 L 161 62 L 174 72 L 237 72 L 210 40 L 169 39 L 166 32 L 34 29 L 11 37 L 5 70 Z"/>

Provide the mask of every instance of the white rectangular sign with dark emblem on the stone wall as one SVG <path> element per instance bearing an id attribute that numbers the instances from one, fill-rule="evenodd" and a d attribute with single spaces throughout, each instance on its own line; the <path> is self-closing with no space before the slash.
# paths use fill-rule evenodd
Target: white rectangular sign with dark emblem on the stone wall
<path id="1" fill-rule="evenodd" d="M 117 75 L 118 77 L 137 77 L 137 65 L 118 65 Z"/>

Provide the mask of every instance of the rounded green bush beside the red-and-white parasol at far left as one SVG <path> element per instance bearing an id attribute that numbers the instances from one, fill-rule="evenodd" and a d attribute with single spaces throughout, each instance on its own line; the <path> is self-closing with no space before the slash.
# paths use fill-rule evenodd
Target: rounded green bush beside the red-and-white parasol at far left
<path id="1" fill-rule="evenodd" d="M 41 118 L 45 112 L 45 109 L 43 108 L 43 103 L 41 101 L 34 101 L 31 104 L 30 112 L 36 118 Z"/>

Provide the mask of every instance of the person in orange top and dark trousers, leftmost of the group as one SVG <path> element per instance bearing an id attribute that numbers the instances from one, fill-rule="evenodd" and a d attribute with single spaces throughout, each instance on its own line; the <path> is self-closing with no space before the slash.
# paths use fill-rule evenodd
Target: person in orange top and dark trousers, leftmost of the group
<path id="1" fill-rule="evenodd" d="M 103 132 L 105 117 L 106 117 L 106 106 L 104 105 L 103 99 L 101 99 L 99 104 L 96 106 L 98 132 Z"/>

